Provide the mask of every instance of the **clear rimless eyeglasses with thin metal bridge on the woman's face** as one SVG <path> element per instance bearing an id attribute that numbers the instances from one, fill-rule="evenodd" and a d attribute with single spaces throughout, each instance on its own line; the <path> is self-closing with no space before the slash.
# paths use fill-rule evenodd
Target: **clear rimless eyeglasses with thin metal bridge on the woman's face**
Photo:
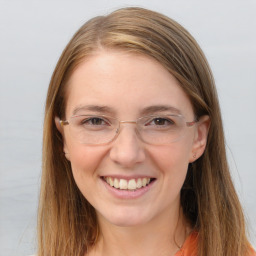
<path id="1" fill-rule="evenodd" d="M 121 124 L 135 124 L 137 136 L 145 143 L 153 145 L 170 144 L 184 136 L 186 128 L 193 126 L 197 119 L 186 122 L 182 115 L 150 115 L 135 121 L 119 121 L 116 118 L 101 115 L 75 115 L 62 121 L 69 125 L 71 136 L 82 144 L 102 145 L 117 138 Z"/>

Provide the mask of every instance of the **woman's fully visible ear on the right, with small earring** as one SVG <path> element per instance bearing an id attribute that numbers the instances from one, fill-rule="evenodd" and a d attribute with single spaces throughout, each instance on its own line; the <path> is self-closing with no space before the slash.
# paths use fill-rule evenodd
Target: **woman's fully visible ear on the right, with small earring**
<path id="1" fill-rule="evenodd" d="M 205 115 L 200 117 L 197 126 L 195 137 L 193 141 L 192 150 L 190 153 L 189 162 L 193 163 L 197 160 L 203 153 L 207 144 L 207 136 L 210 128 L 210 118 Z"/>

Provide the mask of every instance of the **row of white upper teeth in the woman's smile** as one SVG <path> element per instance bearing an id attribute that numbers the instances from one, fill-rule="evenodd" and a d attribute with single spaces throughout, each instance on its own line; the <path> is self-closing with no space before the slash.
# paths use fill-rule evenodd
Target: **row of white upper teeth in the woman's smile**
<path id="1" fill-rule="evenodd" d="M 137 188 L 145 187 L 149 184 L 150 178 L 139 178 L 139 179 L 118 179 L 112 177 L 106 177 L 105 181 L 112 187 L 119 189 L 135 190 Z"/>

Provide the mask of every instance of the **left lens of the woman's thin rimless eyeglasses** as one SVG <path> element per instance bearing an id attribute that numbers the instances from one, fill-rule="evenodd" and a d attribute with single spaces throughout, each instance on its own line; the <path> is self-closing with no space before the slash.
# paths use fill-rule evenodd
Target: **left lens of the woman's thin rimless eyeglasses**
<path id="1" fill-rule="evenodd" d="M 70 133 L 83 144 L 104 144 L 114 139 L 118 127 L 115 119 L 80 115 L 70 120 Z"/>

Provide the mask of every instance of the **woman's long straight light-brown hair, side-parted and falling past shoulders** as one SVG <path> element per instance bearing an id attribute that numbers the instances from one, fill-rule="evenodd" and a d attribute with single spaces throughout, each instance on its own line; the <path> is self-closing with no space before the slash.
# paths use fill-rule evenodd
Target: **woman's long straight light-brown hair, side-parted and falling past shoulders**
<path id="1" fill-rule="evenodd" d="M 189 165 L 181 206 L 199 232 L 199 256 L 248 255 L 244 216 L 230 177 L 220 107 L 207 60 L 182 26 L 142 8 L 124 8 L 88 21 L 56 65 L 45 106 L 38 255 L 81 256 L 97 242 L 95 210 L 74 182 L 54 118 L 65 117 L 66 84 L 72 72 L 99 48 L 156 59 L 180 82 L 196 116 L 210 117 L 207 146 L 203 156 Z"/>

